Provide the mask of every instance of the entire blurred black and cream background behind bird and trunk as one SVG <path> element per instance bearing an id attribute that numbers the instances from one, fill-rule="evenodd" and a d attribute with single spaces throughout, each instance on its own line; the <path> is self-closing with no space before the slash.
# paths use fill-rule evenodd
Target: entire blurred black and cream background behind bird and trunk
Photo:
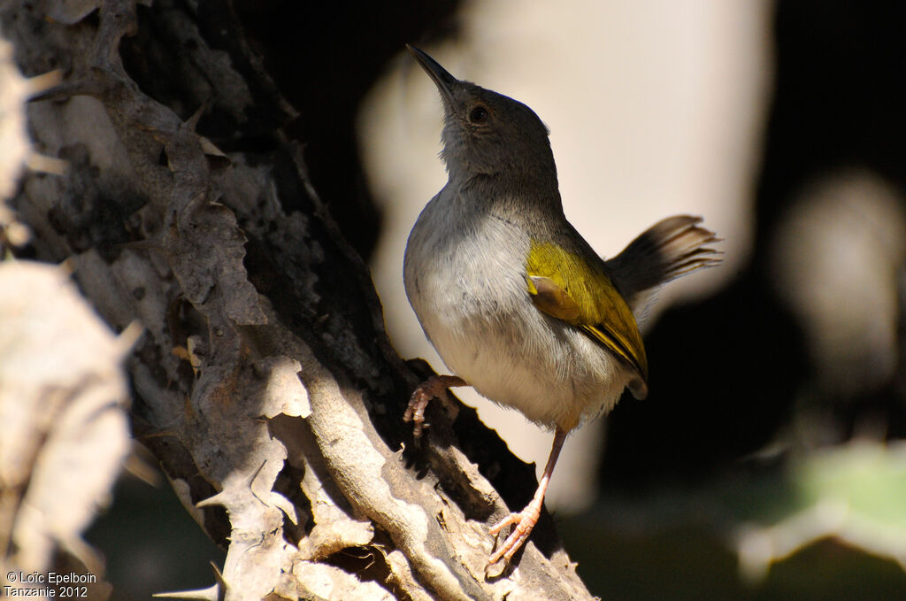
<path id="1" fill-rule="evenodd" d="M 439 98 L 405 43 L 535 109 L 567 217 L 603 255 L 676 213 L 725 238 L 725 265 L 667 286 L 644 325 L 650 397 L 571 437 L 554 473 L 548 507 L 594 594 L 906 598 L 906 4 L 236 5 L 404 357 L 444 369 L 401 286 L 446 180 Z M 461 398 L 544 463 L 549 433 Z M 111 542 L 151 495 L 120 484 L 89 536 L 114 598 L 209 584 L 204 562 L 197 581 L 142 576 L 154 552 Z"/>

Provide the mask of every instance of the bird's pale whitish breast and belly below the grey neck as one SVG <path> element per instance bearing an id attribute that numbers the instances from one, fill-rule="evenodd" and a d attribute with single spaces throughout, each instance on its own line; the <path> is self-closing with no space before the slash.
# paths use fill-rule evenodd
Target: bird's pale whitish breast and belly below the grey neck
<path id="1" fill-rule="evenodd" d="M 422 328 L 448 368 L 491 401 L 548 428 L 571 430 L 610 411 L 625 369 L 572 326 L 542 314 L 525 283 L 525 248 L 506 224 L 487 223 L 481 256 L 442 240 L 407 248 L 406 291 Z M 419 224 L 412 238 L 424 234 Z M 429 236 L 431 234 L 429 233 Z"/>

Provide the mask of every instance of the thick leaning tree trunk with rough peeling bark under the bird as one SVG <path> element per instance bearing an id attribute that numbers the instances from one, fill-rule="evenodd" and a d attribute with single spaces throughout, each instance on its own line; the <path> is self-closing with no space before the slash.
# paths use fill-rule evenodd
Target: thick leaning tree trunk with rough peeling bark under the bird
<path id="1" fill-rule="evenodd" d="M 26 75 L 63 72 L 29 107 L 68 170 L 11 201 L 27 252 L 144 327 L 133 434 L 227 549 L 199 598 L 590 598 L 546 516 L 486 574 L 501 494 L 521 508 L 534 470 L 458 402 L 414 444 L 400 418 L 429 371 L 391 348 L 228 4 L 3 2 L 0 22 Z"/>

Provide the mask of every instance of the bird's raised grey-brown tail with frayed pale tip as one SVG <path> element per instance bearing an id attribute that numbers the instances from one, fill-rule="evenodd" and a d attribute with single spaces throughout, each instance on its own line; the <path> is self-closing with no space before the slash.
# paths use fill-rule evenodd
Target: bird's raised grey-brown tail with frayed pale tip
<path id="1" fill-rule="evenodd" d="M 700 217 L 689 215 L 662 219 L 606 261 L 613 285 L 635 315 L 644 314 L 660 286 L 723 260 L 722 252 L 708 247 L 720 238 L 699 223 Z"/>

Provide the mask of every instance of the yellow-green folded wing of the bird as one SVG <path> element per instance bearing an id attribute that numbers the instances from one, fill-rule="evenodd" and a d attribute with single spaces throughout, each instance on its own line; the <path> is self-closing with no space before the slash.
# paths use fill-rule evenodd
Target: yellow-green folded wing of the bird
<path id="1" fill-rule="evenodd" d="M 641 378 L 632 393 L 644 396 L 648 360 L 639 326 L 602 267 L 554 244 L 533 243 L 525 263 L 528 294 L 547 315 L 580 328 Z"/>

